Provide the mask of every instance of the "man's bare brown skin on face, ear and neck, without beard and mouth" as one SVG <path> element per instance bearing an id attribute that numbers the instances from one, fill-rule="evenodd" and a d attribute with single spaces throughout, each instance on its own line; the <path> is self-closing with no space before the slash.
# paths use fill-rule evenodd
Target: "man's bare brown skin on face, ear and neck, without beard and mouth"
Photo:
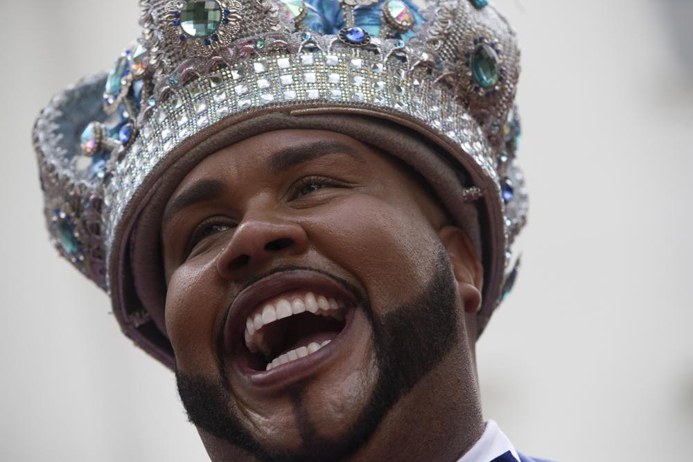
<path id="1" fill-rule="evenodd" d="M 177 201 L 209 180 L 217 182 L 206 188 L 216 197 Z M 439 249 L 459 314 L 454 342 L 346 459 L 454 461 L 481 436 L 474 344 L 482 267 L 462 230 L 394 157 L 333 132 L 267 132 L 201 161 L 164 216 L 166 328 L 177 371 L 222 382 L 229 392 L 224 411 L 258 445 L 299 453 L 310 447 L 308 424 L 320 441 L 340 441 L 357 425 L 381 368 L 373 319 L 392 319 L 393 307 L 426 293 Z M 254 387 L 220 347 L 219 332 L 240 290 L 285 267 L 345 281 L 367 298 L 371 319 L 356 306 L 349 334 L 306 377 Z M 214 461 L 258 460 L 247 446 L 198 431 Z"/>

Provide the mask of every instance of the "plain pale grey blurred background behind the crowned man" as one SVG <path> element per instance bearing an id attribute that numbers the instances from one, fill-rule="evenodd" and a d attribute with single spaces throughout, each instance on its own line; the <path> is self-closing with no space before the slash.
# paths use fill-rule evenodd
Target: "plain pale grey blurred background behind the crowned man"
<path id="1" fill-rule="evenodd" d="M 559 461 L 693 460 L 691 0 L 495 5 L 532 210 L 478 344 L 486 418 Z M 135 0 L 0 0 L 0 459 L 203 461 L 172 373 L 48 242 L 30 129 L 139 35 Z"/>

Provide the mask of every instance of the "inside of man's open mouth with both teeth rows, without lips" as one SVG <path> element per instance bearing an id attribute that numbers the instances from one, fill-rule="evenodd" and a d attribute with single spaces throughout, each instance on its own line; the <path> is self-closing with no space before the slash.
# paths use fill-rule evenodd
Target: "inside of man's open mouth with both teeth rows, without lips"
<path id="1" fill-rule="evenodd" d="M 271 371 L 312 355 L 344 329 L 347 301 L 313 292 L 282 295 L 246 319 L 243 338 L 250 366 Z"/>

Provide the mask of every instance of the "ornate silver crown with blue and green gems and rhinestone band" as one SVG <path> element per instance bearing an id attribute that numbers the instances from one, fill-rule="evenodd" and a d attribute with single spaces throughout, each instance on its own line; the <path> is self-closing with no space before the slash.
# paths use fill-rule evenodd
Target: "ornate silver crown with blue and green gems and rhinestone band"
<path id="1" fill-rule="evenodd" d="M 493 241 L 483 328 L 514 282 L 512 244 L 527 215 L 516 162 L 519 51 L 495 9 L 485 0 L 140 3 L 137 43 L 37 119 L 46 217 L 64 257 L 124 305 L 132 211 L 184 141 L 272 108 L 356 109 L 459 152 Z M 126 333 L 147 327 L 146 308 L 114 312 Z"/>

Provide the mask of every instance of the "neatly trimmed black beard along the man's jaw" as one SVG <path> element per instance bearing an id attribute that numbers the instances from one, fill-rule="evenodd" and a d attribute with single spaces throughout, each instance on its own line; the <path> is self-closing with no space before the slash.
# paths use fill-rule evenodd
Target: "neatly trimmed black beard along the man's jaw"
<path id="1" fill-rule="evenodd" d="M 290 396 L 303 447 L 286 452 L 261 445 L 231 410 L 233 398 L 222 362 L 220 380 L 176 371 L 178 392 L 188 419 L 195 427 L 245 448 L 261 461 L 339 461 L 355 454 L 373 436 L 389 409 L 457 344 L 457 291 L 442 245 L 433 273 L 430 283 L 413 303 L 400 305 L 382 317 L 374 314 L 366 296 L 359 297 L 373 328 L 378 380 L 356 422 L 339 439 L 319 436 L 305 411 L 306 387 L 299 384 Z M 347 281 L 340 282 L 358 294 Z"/>

